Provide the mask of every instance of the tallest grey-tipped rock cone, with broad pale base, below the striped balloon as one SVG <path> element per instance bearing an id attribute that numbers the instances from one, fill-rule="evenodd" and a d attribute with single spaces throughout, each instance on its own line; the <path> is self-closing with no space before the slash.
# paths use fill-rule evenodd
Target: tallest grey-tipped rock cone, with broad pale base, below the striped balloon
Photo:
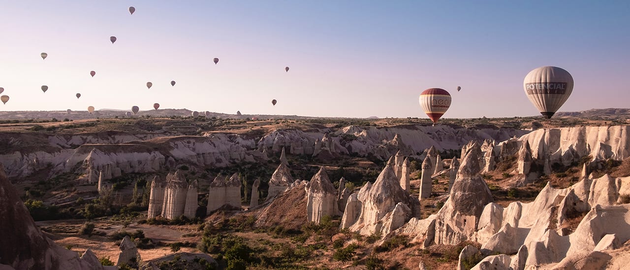
<path id="1" fill-rule="evenodd" d="M 486 204 L 493 202 L 490 189 L 481 179 L 478 144 L 467 149 L 457 173 L 457 180 L 450 190 L 449 199 L 438 211 L 435 222 L 435 243 L 457 245 L 473 239 L 479 218 Z"/>

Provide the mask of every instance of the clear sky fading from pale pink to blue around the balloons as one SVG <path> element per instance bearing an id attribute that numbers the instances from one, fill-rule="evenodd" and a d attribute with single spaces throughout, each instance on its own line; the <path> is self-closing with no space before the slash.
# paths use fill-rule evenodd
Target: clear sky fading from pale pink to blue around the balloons
<path id="1" fill-rule="evenodd" d="M 418 95 L 440 87 L 452 95 L 444 117 L 534 116 L 522 84 L 544 65 L 575 80 L 560 111 L 629 107 L 629 14 L 630 1 L 0 0 L 0 87 L 11 97 L 0 110 L 159 102 L 426 118 Z"/>

